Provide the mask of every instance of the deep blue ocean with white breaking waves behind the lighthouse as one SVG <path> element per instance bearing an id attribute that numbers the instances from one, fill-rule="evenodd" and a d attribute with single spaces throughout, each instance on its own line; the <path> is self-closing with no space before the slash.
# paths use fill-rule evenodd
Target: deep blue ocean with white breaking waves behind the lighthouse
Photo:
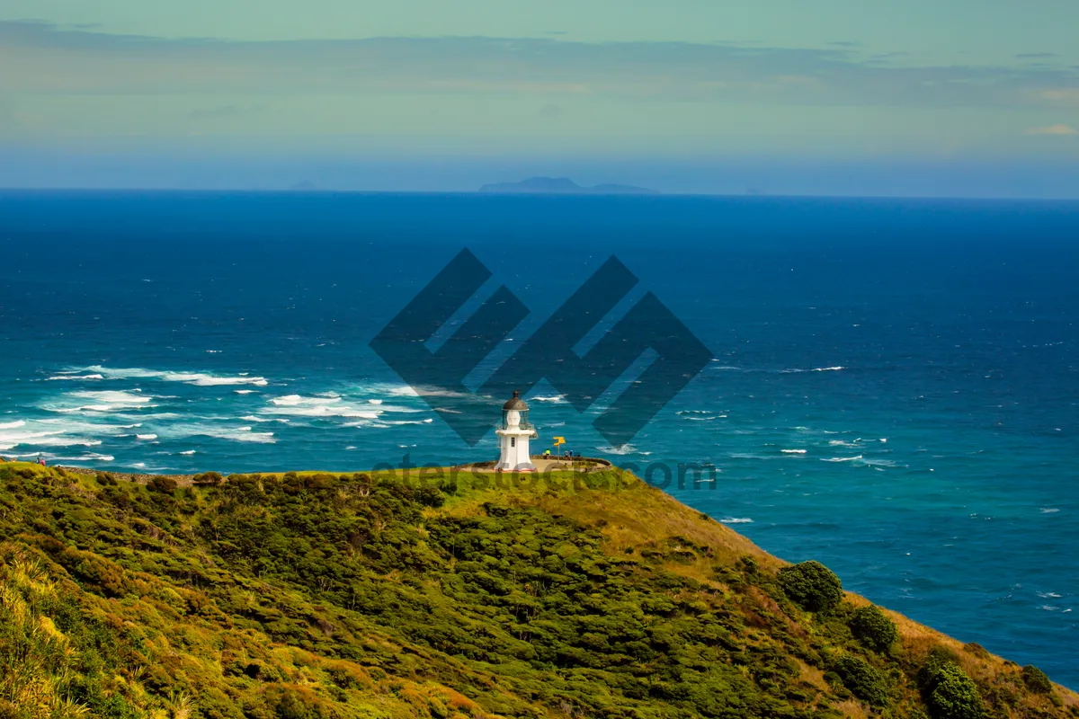
<path id="1" fill-rule="evenodd" d="M 6 192 L 0 454 L 493 458 L 369 347 L 462 248 L 529 308 L 514 340 L 616 255 L 714 356 L 628 445 L 541 384 L 541 448 L 714 467 L 667 490 L 1079 687 L 1076 203 Z"/>

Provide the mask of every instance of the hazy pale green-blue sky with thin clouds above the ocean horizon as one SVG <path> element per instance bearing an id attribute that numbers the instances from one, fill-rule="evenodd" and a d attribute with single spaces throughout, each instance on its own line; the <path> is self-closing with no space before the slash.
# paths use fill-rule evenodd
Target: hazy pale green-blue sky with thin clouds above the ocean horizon
<path id="1" fill-rule="evenodd" d="M 1076 28 L 1074 0 L 4 0 L 0 185 L 1075 196 Z"/>

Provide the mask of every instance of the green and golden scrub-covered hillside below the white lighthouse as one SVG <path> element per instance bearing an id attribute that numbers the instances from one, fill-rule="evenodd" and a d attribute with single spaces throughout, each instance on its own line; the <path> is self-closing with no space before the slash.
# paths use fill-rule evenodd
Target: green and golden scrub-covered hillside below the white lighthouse
<path id="1" fill-rule="evenodd" d="M 5 717 L 1069 717 L 617 471 L 0 464 Z"/>

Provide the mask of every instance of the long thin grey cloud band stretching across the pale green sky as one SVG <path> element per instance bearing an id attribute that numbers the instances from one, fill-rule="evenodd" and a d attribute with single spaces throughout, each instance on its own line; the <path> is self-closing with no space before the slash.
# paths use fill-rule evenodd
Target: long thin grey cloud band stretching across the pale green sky
<path id="1" fill-rule="evenodd" d="M 241 42 L 0 22 L 0 93 L 474 93 L 756 105 L 1024 107 L 1079 97 L 1079 72 L 1022 64 L 920 67 L 846 46 L 504 38 Z M 797 78 L 797 82 L 791 82 Z"/>

